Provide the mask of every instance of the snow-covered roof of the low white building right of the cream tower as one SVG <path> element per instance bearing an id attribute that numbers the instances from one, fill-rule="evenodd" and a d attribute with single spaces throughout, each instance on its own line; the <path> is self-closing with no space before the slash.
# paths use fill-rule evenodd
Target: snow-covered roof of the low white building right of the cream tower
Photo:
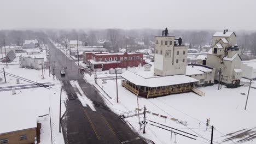
<path id="1" fill-rule="evenodd" d="M 206 72 L 211 72 L 212 69 L 198 66 L 198 65 L 187 65 L 186 75 L 198 75 Z"/>

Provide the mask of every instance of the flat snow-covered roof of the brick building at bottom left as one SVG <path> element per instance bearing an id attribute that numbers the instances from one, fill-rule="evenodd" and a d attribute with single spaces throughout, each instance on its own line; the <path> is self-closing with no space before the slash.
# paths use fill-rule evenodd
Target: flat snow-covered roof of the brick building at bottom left
<path id="1" fill-rule="evenodd" d="M 22 108 L 17 109 L 17 107 L 9 107 L 8 109 L 0 111 L 0 115 L 4 116 L 4 118 L 2 117 L 0 120 L 0 134 L 37 127 L 36 113 L 32 110 L 22 111 L 21 109 Z"/>

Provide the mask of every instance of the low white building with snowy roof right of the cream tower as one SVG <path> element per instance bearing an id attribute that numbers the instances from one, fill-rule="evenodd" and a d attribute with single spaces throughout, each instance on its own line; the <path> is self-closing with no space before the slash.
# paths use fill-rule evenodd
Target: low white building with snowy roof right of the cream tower
<path id="1" fill-rule="evenodd" d="M 186 75 L 198 80 L 197 86 L 211 86 L 214 84 L 215 69 L 206 65 L 189 64 Z"/>

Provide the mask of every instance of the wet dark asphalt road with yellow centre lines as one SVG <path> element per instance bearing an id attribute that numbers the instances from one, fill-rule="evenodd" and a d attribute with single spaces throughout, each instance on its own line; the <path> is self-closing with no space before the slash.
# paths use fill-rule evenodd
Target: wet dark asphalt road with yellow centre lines
<path id="1" fill-rule="evenodd" d="M 51 68 L 54 68 L 57 79 L 63 82 L 62 87 L 68 94 L 66 116 L 61 122 L 66 144 L 146 143 L 117 114 L 108 109 L 97 89 L 83 79 L 85 77 L 79 73 L 78 66 L 73 61 L 70 61 L 53 44 L 48 43 L 48 46 Z M 61 76 L 60 70 L 65 70 L 66 75 Z M 71 86 L 69 83 L 71 80 L 78 81 L 83 93 L 93 101 L 96 111 L 80 103 L 76 94 L 79 91 Z"/>

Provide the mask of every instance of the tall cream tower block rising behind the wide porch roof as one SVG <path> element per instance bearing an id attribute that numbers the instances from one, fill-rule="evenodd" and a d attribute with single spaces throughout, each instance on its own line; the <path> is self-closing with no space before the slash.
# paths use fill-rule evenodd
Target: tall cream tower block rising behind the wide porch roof
<path id="1" fill-rule="evenodd" d="M 175 36 L 155 37 L 155 75 L 167 76 L 185 74 L 188 46 L 182 45 L 182 38 Z"/>

